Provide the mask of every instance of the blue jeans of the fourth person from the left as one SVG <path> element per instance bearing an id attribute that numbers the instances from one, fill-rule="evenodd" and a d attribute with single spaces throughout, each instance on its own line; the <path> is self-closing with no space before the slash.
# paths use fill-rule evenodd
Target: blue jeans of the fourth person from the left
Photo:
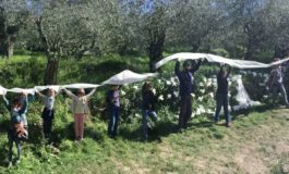
<path id="1" fill-rule="evenodd" d="M 118 124 L 119 124 L 119 108 L 111 107 L 108 112 L 109 112 L 108 135 L 117 136 Z"/>

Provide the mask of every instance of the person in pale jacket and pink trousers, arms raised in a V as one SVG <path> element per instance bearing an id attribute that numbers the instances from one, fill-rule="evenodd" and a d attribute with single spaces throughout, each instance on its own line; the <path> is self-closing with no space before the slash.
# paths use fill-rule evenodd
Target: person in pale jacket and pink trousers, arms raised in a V
<path id="1" fill-rule="evenodd" d="M 80 88 L 77 96 L 73 95 L 70 90 L 63 88 L 65 94 L 72 99 L 72 112 L 74 114 L 74 130 L 75 130 L 75 142 L 83 140 L 84 135 L 84 120 L 86 114 L 89 112 L 88 99 L 95 92 L 96 88 L 93 89 L 88 95 L 85 95 L 85 90 Z"/>

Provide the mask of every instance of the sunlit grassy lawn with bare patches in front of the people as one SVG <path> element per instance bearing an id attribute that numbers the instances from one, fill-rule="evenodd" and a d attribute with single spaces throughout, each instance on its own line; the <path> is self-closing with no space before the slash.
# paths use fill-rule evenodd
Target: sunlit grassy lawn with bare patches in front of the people
<path id="1" fill-rule="evenodd" d="M 0 172 L 286 173 L 289 172 L 287 112 L 279 109 L 239 114 L 231 128 L 198 117 L 183 133 L 173 133 L 176 123 L 161 120 L 158 127 L 162 142 L 154 138 L 142 142 L 137 122 L 121 125 L 116 140 L 106 136 L 104 122 L 88 122 L 86 138 L 81 144 L 74 144 L 71 137 L 63 137 L 56 147 L 45 146 L 41 140 L 25 144 L 22 163 L 5 169 L 2 162 Z M 3 139 L 5 135 L 1 133 Z"/>

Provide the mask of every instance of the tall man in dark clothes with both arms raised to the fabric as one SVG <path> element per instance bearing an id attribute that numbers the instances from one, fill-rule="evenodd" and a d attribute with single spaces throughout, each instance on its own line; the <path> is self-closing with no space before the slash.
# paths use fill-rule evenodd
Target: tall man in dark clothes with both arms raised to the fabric
<path id="1" fill-rule="evenodd" d="M 192 61 L 186 60 L 183 63 L 183 71 L 180 71 L 180 61 L 178 60 L 174 65 L 174 74 L 179 78 L 180 83 L 180 115 L 178 128 L 186 128 L 188 121 L 192 115 L 192 96 L 193 90 L 193 74 L 200 69 L 203 60 L 200 59 L 197 63 L 192 67 Z"/>

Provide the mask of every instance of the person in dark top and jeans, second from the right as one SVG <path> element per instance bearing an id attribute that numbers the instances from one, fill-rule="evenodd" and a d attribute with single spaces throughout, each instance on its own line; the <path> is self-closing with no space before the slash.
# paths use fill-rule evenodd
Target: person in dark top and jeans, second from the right
<path id="1" fill-rule="evenodd" d="M 230 115 L 229 115 L 229 102 L 228 102 L 228 77 L 230 74 L 231 67 L 228 67 L 228 71 L 225 69 L 225 65 L 220 67 L 220 71 L 217 75 L 218 88 L 216 92 L 216 114 L 215 123 L 219 122 L 219 114 L 221 107 L 224 107 L 224 113 L 226 119 L 226 126 L 230 127 Z"/>

